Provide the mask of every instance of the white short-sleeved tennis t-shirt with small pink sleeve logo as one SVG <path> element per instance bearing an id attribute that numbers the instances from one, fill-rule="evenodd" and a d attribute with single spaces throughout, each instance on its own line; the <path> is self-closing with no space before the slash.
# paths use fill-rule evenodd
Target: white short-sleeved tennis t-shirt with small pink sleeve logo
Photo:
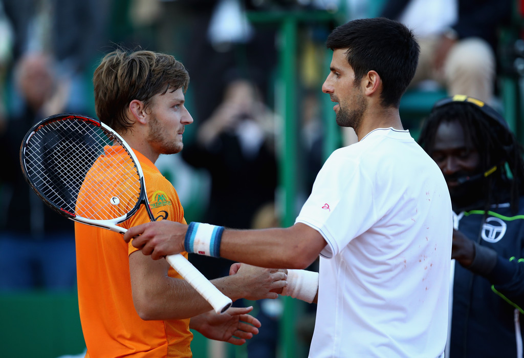
<path id="1" fill-rule="evenodd" d="M 311 358 L 444 351 L 451 201 L 442 172 L 408 131 L 378 128 L 334 151 L 296 222 L 328 243 Z"/>

